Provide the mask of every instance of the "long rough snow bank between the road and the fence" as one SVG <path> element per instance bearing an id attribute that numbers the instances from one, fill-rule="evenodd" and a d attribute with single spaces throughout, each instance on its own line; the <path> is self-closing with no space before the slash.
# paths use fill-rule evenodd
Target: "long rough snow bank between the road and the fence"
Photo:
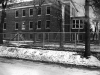
<path id="1" fill-rule="evenodd" d="M 100 61 L 96 57 L 90 56 L 89 59 L 81 58 L 81 56 L 76 52 L 68 51 L 51 51 L 0 46 L 0 56 L 100 67 Z"/>

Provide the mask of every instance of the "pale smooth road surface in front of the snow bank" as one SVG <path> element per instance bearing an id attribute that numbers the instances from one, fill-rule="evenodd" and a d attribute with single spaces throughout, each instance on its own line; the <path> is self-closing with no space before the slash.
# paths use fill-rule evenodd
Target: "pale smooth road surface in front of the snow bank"
<path id="1" fill-rule="evenodd" d="M 0 58 L 0 75 L 100 75 L 100 71 Z"/>

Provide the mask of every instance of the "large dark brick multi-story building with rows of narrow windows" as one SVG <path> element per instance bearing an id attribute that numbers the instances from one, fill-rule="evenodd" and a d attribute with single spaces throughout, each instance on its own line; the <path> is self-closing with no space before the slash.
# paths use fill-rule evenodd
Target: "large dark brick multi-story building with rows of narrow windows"
<path id="1" fill-rule="evenodd" d="M 37 32 L 36 38 L 40 39 L 40 32 L 60 32 L 59 19 L 62 19 L 63 32 L 72 31 L 71 17 L 76 17 L 78 12 L 72 0 L 61 0 L 61 3 L 56 0 L 45 0 L 42 5 L 40 0 L 35 1 L 10 4 L 10 8 L 6 9 L 3 32 L 30 32 L 23 35 L 26 39 L 33 39 L 34 35 L 31 32 Z M 5 34 L 4 38 L 11 37 Z"/>

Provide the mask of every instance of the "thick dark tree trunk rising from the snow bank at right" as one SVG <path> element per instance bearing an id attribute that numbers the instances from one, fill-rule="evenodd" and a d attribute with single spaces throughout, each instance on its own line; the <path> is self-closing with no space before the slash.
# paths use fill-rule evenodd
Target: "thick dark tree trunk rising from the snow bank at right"
<path id="1" fill-rule="evenodd" d="M 89 0 L 85 0 L 85 52 L 84 56 L 90 56 L 90 23 L 89 23 Z"/>

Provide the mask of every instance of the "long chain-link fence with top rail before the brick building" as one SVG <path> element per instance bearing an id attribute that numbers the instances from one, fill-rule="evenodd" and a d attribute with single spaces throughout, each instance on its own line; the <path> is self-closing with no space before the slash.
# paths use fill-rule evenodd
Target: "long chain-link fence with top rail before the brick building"
<path id="1" fill-rule="evenodd" d="M 63 35 L 63 46 L 67 49 L 85 48 L 85 32 L 17 32 L 17 33 L 2 33 L 4 44 L 29 44 L 35 47 L 42 48 L 59 48 L 60 34 Z M 100 33 L 92 33 L 90 36 L 91 49 L 100 50 Z"/>

